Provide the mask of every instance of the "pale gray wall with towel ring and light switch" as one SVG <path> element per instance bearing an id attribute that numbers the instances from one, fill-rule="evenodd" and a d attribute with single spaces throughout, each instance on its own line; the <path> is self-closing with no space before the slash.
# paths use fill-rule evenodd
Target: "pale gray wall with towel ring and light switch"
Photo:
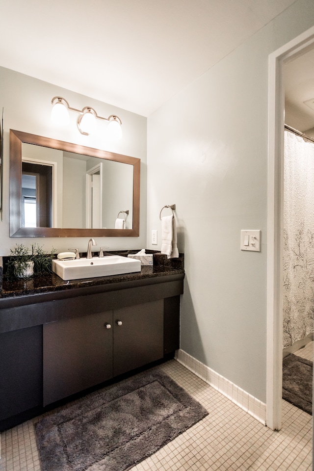
<path id="1" fill-rule="evenodd" d="M 313 25 L 296 1 L 148 118 L 147 246 L 175 203 L 181 348 L 263 402 L 268 55 Z M 262 230 L 261 253 L 241 252 L 241 229 Z"/>

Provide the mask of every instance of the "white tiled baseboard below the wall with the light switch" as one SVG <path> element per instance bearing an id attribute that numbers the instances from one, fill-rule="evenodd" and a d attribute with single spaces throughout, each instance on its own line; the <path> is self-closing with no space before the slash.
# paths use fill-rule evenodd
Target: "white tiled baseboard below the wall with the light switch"
<path id="1" fill-rule="evenodd" d="M 181 365 L 196 374 L 203 381 L 208 383 L 212 388 L 221 392 L 232 402 L 239 406 L 243 411 L 247 412 L 255 419 L 259 420 L 263 425 L 266 424 L 266 404 L 252 396 L 234 383 L 216 373 L 209 366 L 204 365 L 195 358 L 191 357 L 184 350 L 176 351 L 175 359 Z"/>

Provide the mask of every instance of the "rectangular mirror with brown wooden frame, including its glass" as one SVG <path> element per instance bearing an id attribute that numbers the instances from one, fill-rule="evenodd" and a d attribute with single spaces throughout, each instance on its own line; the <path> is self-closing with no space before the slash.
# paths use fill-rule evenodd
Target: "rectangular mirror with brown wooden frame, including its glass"
<path id="1" fill-rule="evenodd" d="M 10 130 L 10 237 L 139 235 L 140 159 Z"/>

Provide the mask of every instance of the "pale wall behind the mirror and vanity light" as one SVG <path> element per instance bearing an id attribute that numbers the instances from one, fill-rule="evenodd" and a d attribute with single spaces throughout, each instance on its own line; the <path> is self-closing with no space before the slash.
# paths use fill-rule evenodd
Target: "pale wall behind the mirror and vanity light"
<path id="1" fill-rule="evenodd" d="M 97 136 L 84 136 L 76 126 L 78 114 L 70 112 L 71 125 L 68 128 L 53 126 L 50 119 L 51 101 L 54 96 L 64 97 L 70 106 L 82 109 L 92 106 L 100 116 L 117 114 L 123 124 L 123 139 L 110 141 L 101 132 L 103 121 L 98 120 Z M 0 67 L 0 115 L 4 108 L 4 157 L 3 157 L 3 220 L 0 221 L 0 255 L 8 255 L 16 243 L 31 246 L 38 242 L 45 250 L 52 247 L 59 252 L 68 247 L 87 250 L 88 238 L 21 238 L 9 237 L 9 129 L 30 132 L 41 136 L 60 139 L 88 147 L 105 149 L 141 159 L 141 205 L 139 237 L 96 237 L 99 246 L 110 249 L 137 249 L 146 245 L 146 118 L 112 105 L 56 87 L 36 78 L 19 74 Z"/>

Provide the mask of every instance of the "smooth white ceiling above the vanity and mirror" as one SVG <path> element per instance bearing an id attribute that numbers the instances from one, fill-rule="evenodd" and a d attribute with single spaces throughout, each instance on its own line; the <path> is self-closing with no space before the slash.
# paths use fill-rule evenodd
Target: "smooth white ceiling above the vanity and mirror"
<path id="1" fill-rule="evenodd" d="M 149 116 L 294 1 L 2 1 L 0 65 Z"/>

